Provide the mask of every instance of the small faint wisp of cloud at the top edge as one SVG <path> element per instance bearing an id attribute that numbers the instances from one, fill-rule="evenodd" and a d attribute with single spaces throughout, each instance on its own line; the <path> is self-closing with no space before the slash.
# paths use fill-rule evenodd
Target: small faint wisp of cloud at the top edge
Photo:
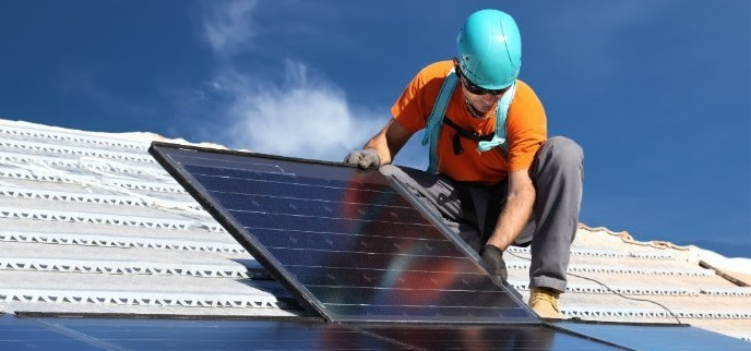
<path id="1" fill-rule="evenodd" d="M 251 14 L 255 0 L 207 2 L 202 21 L 203 37 L 218 55 L 233 55 L 253 36 Z"/>

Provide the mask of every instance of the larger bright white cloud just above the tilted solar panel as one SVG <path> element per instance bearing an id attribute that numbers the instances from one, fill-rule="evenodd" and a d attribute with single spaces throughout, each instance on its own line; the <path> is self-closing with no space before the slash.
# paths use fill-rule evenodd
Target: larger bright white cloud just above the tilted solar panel
<path id="1" fill-rule="evenodd" d="M 385 122 L 385 113 L 357 110 L 341 89 L 311 78 L 303 63 L 287 61 L 285 68 L 285 83 L 276 86 L 236 72 L 214 82 L 230 97 L 223 112 L 233 147 L 338 161 Z"/>

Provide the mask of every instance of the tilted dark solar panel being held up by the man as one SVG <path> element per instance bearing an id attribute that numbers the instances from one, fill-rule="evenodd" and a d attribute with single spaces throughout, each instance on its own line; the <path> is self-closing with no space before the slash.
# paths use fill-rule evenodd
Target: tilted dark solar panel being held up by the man
<path id="1" fill-rule="evenodd" d="M 329 320 L 538 322 L 376 170 L 164 143 L 150 153 Z"/>

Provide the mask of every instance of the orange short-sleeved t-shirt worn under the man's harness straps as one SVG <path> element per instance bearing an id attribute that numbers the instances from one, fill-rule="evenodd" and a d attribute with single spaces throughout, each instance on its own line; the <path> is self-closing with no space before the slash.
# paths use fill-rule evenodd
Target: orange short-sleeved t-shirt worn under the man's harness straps
<path id="1" fill-rule="evenodd" d="M 422 69 L 407 85 L 402 96 L 391 108 L 394 120 L 409 133 L 425 129 L 432 111 L 438 92 L 453 68 L 452 61 L 432 63 Z M 491 134 L 496 131 L 496 107 L 489 118 L 473 117 L 464 102 L 462 82 L 456 83 L 446 118 L 466 131 Z M 529 168 L 535 153 L 547 138 L 547 121 L 543 104 L 535 92 L 522 81 L 516 81 L 514 96 L 505 122 L 509 157 L 499 147 L 480 153 L 477 142 L 460 137 L 464 153 L 454 155 L 452 137 L 456 131 L 443 124 L 438 138 L 438 172 L 456 181 L 494 184 L 504 180 L 509 172 Z"/>

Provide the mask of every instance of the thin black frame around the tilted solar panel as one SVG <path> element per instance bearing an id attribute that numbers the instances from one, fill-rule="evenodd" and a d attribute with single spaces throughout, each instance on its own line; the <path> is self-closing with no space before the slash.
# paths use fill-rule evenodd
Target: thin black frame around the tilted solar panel
<path id="1" fill-rule="evenodd" d="M 279 161 L 293 161 L 293 162 L 303 162 L 303 164 L 313 164 L 313 165 L 323 165 L 323 166 L 333 166 L 333 167 L 344 167 L 344 168 L 356 168 L 356 166 L 353 165 L 347 165 L 347 164 L 342 164 L 342 162 L 332 162 L 332 161 L 323 161 L 323 160 L 311 160 L 311 159 L 302 159 L 302 158 L 294 158 L 294 157 L 283 157 L 283 156 L 276 156 L 276 155 L 267 155 L 267 154 L 260 154 L 260 153 L 251 153 L 251 152 L 239 152 L 239 150 L 229 150 L 229 149 L 216 149 L 216 148 L 207 148 L 207 147 L 201 147 L 201 146 L 193 146 L 193 145 L 180 145 L 180 144 L 171 144 L 171 143 L 164 143 L 164 142 L 153 142 L 152 146 L 148 148 L 148 153 L 156 159 L 156 161 L 165 169 L 167 172 L 186 190 L 188 193 L 195 198 L 195 201 L 206 210 L 208 211 L 214 219 L 222 225 L 227 232 L 229 232 L 235 240 L 238 241 L 248 252 L 264 267 L 273 267 L 273 269 L 270 269 L 270 275 L 279 281 L 283 287 L 285 287 L 290 293 L 293 293 L 300 306 L 303 308 L 317 313 L 320 315 L 322 318 L 326 320 L 332 320 L 326 312 L 325 307 L 323 305 L 319 305 L 320 302 L 318 299 L 307 291 L 307 289 L 299 289 L 297 287 L 297 283 L 295 282 L 294 275 L 289 273 L 284 265 L 282 265 L 276 258 L 274 258 L 274 255 L 270 253 L 261 243 L 259 243 L 252 235 L 246 235 L 242 233 L 239 228 L 242 228 L 240 223 L 236 222 L 236 220 L 233 218 L 231 215 L 229 215 L 224 208 L 216 207 L 213 205 L 213 201 L 211 195 L 204 193 L 205 189 L 203 185 L 201 185 L 199 182 L 196 182 L 193 177 L 189 173 L 183 173 L 182 167 L 180 165 L 177 165 L 175 161 L 172 161 L 169 156 L 163 154 L 160 152 L 160 148 L 170 148 L 170 149 L 181 149 L 181 150 L 194 150 L 194 152 L 204 152 L 204 153 L 214 153 L 214 154 L 226 154 L 226 155 L 234 155 L 234 156 L 251 156 L 251 157 L 259 157 L 259 158 L 266 158 L 266 159 L 272 159 L 272 160 L 279 160 Z M 368 171 L 368 170 L 366 170 Z M 370 170 L 373 172 L 378 172 L 378 170 Z M 457 250 L 460 252 L 464 253 L 465 255 L 473 257 L 476 263 L 479 262 L 479 256 L 477 255 L 474 250 L 469 247 L 461 238 L 456 237 L 450 228 L 443 223 L 443 221 L 440 218 L 437 218 L 434 215 L 432 215 L 431 211 L 429 211 L 425 205 L 422 205 L 417 198 L 415 198 L 414 195 L 412 195 L 402 183 L 400 183 L 396 179 L 391 178 L 391 177 L 384 177 L 390 183 L 392 190 L 394 190 L 396 193 L 398 193 L 403 198 L 405 198 L 415 209 L 417 209 L 418 213 L 421 214 L 421 216 L 428 220 L 434 228 L 439 230 L 439 232 L 448 239 L 450 242 L 454 243 Z M 204 190 L 204 191 L 202 191 Z M 508 283 L 500 281 L 492 277 L 491 275 L 488 274 L 487 269 L 480 264 L 477 264 L 477 267 L 481 269 L 481 271 L 485 271 L 486 275 L 490 280 L 492 280 L 499 288 L 502 288 L 503 291 L 505 291 L 509 295 L 509 298 L 513 301 L 516 302 L 516 304 L 520 306 L 520 308 L 526 310 L 531 316 L 535 317 L 536 315 L 529 307 L 522 302 L 522 296 L 521 294 L 513 289 L 511 286 Z M 338 322 L 368 322 L 367 319 L 353 319 L 353 320 L 338 320 Z M 384 323 L 386 320 L 377 320 L 379 323 Z M 405 322 L 405 320 L 393 320 L 394 323 L 422 323 L 425 324 L 426 322 L 420 322 L 420 320 L 410 320 L 410 322 Z M 446 323 L 446 322 L 442 322 Z M 496 322 L 497 323 L 497 322 Z M 524 323 L 539 323 L 539 320 L 534 320 L 534 322 L 515 322 L 515 324 L 524 324 Z M 466 323 L 461 322 L 460 324 L 491 324 L 490 322 L 476 322 L 476 320 L 467 320 Z"/>

